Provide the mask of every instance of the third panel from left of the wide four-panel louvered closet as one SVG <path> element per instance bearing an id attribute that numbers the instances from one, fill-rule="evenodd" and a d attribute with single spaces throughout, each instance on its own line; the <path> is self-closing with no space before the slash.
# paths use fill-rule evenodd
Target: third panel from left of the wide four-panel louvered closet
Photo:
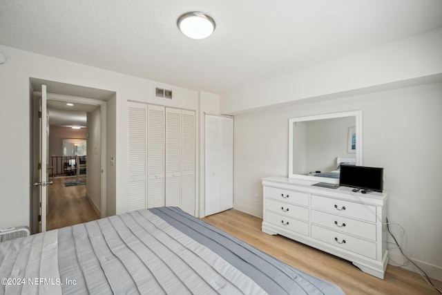
<path id="1" fill-rule="evenodd" d="M 166 206 L 181 207 L 181 110 L 166 108 Z"/>

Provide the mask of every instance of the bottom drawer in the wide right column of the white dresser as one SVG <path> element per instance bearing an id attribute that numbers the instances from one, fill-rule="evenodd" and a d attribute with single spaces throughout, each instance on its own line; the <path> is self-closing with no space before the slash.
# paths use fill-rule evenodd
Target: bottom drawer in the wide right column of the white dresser
<path id="1" fill-rule="evenodd" d="M 311 238 L 321 240 L 329 245 L 361 254 L 368 258 L 376 259 L 376 243 L 347 236 L 337 231 L 311 225 Z"/>

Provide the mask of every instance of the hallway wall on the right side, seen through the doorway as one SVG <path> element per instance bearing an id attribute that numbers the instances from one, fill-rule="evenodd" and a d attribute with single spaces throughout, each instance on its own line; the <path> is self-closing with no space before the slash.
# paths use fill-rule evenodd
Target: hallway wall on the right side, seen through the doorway
<path id="1" fill-rule="evenodd" d="M 87 113 L 88 146 L 86 161 L 86 193 L 93 209 L 101 216 L 102 204 L 102 110 Z"/>

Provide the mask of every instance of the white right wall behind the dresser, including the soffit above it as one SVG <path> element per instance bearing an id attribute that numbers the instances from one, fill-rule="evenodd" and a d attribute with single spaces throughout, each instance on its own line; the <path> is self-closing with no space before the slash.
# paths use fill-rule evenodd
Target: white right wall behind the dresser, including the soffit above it
<path id="1" fill-rule="evenodd" d="M 287 176 L 289 117 L 361 109 L 363 163 L 385 168 L 388 217 L 442 280 L 441 48 L 439 28 L 222 95 L 220 112 L 236 115 L 234 207 L 262 216 L 260 178 Z"/>

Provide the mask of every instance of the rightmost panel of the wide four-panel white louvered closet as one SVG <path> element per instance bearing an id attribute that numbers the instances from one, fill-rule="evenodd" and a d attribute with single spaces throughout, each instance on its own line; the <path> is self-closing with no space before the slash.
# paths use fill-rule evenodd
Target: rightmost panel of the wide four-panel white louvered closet
<path id="1" fill-rule="evenodd" d="M 182 110 L 181 209 L 195 216 L 195 112 Z"/>

